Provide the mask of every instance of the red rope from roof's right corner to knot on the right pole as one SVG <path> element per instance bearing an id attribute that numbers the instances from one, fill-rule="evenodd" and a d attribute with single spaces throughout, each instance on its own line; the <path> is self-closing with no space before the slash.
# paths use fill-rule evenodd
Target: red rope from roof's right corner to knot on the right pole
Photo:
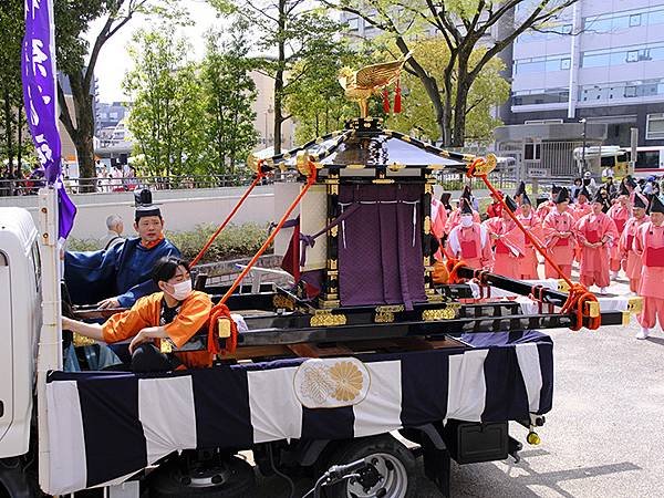
<path id="1" fill-rule="evenodd" d="M 542 255 L 544 260 L 547 260 L 547 262 L 549 264 L 551 264 L 552 268 L 556 269 L 558 274 L 570 287 L 568 299 L 561 309 L 561 313 L 563 313 L 563 314 L 573 312 L 577 315 L 577 322 L 575 322 L 574 326 L 571 326 L 570 329 L 571 330 L 581 329 L 581 326 L 583 325 L 584 317 L 588 318 L 588 328 L 589 329 L 591 329 L 591 330 L 598 329 L 602 323 L 601 317 L 590 317 L 590 315 L 584 314 L 585 308 L 591 302 L 598 302 L 598 298 L 592 292 L 590 292 L 588 289 L 585 289 L 583 286 L 581 286 L 580 283 L 573 283 L 568 277 L 564 276 L 564 273 L 562 272 L 560 267 L 549 257 L 549 255 L 547 255 L 546 249 L 539 243 L 539 241 L 535 237 L 532 237 L 532 235 L 528 230 L 526 230 L 526 227 L 523 227 L 523 225 L 521 225 L 521 222 L 517 218 L 517 215 L 515 215 L 507 207 L 507 204 L 505 203 L 502 195 L 494 187 L 494 185 L 491 185 L 491 183 L 489 181 L 489 178 L 487 177 L 487 174 L 481 173 L 481 174 L 475 175 L 475 170 L 477 169 L 477 166 L 480 165 L 481 163 L 484 163 L 484 160 L 485 159 L 483 159 L 481 157 L 478 157 L 477 159 L 475 159 L 468 167 L 468 172 L 466 172 L 466 176 L 468 176 L 469 178 L 473 178 L 473 177 L 481 178 L 481 180 L 485 183 L 485 185 L 487 186 L 489 191 L 494 195 L 494 197 L 496 197 L 500 201 L 500 204 L 502 205 L 502 209 L 506 210 L 507 214 L 509 215 L 509 217 L 517 224 L 517 227 L 519 227 L 519 229 L 523 232 L 523 235 L 530 241 L 530 243 L 532 243 L 532 246 L 537 249 L 537 251 L 540 255 Z M 541 302 L 541 291 L 540 291 L 540 302 Z"/>

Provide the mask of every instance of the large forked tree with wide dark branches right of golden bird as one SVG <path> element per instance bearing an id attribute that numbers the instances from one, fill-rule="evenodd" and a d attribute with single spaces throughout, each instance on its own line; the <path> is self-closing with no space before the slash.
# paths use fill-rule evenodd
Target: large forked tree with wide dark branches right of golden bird
<path id="1" fill-rule="evenodd" d="M 464 146 L 470 87 L 485 66 L 528 29 L 551 27 L 578 0 L 320 0 L 351 12 L 411 52 L 415 40 L 437 31 L 447 45 L 440 75 L 427 72 L 417 58 L 406 70 L 419 77 L 434 107 L 438 137 L 446 146 Z M 477 48 L 486 51 L 474 59 Z M 471 104 L 470 104 L 471 105 Z"/>

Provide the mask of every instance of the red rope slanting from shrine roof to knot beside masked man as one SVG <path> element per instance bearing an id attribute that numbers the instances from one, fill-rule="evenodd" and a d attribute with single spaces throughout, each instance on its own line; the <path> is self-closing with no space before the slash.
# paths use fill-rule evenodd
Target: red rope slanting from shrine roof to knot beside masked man
<path id="1" fill-rule="evenodd" d="M 210 353 L 216 354 L 216 353 L 221 352 L 222 354 L 225 354 L 227 352 L 228 353 L 235 352 L 235 349 L 238 343 L 238 331 L 237 331 L 237 326 L 234 328 L 235 323 L 232 323 L 232 319 L 230 319 L 230 311 L 228 310 L 228 307 L 226 305 L 226 301 L 228 301 L 228 299 L 237 290 L 237 288 L 240 286 L 240 283 L 245 279 L 245 277 L 247 277 L 247 274 L 249 273 L 249 271 L 251 271 L 251 268 L 256 264 L 256 262 L 258 261 L 258 258 L 260 258 L 262 256 L 262 253 L 270 247 L 270 245 L 274 240 L 274 237 L 277 237 L 277 234 L 279 234 L 279 230 L 281 230 L 281 228 L 283 227 L 286 221 L 288 221 L 288 219 L 290 218 L 290 215 L 293 211 L 293 209 L 295 209 L 298 204 L 300 204 L 300 200 L 302 200 L 302 197 L 304 197 L 304 194 L 307 194 L 307 191 L 311 188 L 311 186 L 313 184 L 315 184 L 317 173 L 318 173 L 318 170 L 315 168 L 315 164 L 310 160 L 309 162 L 309 176 L 307 177 L 307 184 L 304 185 L 304 188 L 302 188 L 302 190 L 300 191 L 298 197 L 295 197 L 295 199 L 289 206 L 287 211 L 283 214 L 283 216 L 279 220 L 279 224 L 277 225 L 277 227 L 272 230 L 272 232 L 270 234 L 268 239 L 263 242 L 263 245 L 256 252 L 256 255 L 253 255 L 253 258 L 251 258 L 251 260 L 247 263 L 247 267 L 235 279 L 235 281 L 232 282 L 232 286 L 230 286 L 230 289 L 228 289 L 228 291 L 226 291 L 226 293 L 224 294 L 221 300 L 210 311 L 210 321 L 209 321 L 209 329 L 208 329 L 208 351 Z M 218 318 L 228 318 L 231 321 L 231 329 L 230 329 L 231 334 L 230 334 L 230 338 L 228 338 L 226 340 L 226 347 L 224 349 L 224 351 L 219 350 L 219 345 L 217 343 L 216 329 L 217 329 L 217 319 Z"/>

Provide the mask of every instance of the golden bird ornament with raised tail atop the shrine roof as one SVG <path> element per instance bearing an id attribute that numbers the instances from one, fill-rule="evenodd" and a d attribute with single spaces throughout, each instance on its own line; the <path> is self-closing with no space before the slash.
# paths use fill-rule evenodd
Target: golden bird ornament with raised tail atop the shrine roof
<path id="1" fill-rule="evenodd" d="M 369 117 L 369 98 L 396 81 L 409 58 L 411 53 L 408 52 L 396 61 L 367 65 L 359 71 L 350 68 L 341 69 L 339 84 L 345 91 L 347 100 L 357 102 L 361 117 Z"/>

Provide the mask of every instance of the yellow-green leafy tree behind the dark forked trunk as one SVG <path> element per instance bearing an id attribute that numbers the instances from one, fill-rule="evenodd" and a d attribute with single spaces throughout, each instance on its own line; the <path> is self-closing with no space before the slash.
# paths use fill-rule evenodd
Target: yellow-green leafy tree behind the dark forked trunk
<path id="1" fill-rule="evenodd" d="M 416 41 L 412 49 L 414 56 L 428 74 L 442 77 L 449 59 L 447 45 L 442 37 Z M 470 62 L 475 63 L 481 59 L 486 50 L 476 49 Z M 466 141 L 487 144 L 492 141 L 494 128 L 502 124 L 494 116 L 492 110 L 509 97 L 509 84 L 500 77 L 504 70 L 504 62 L 498 58 L 492 59 L 470 86 L 465 116 Z M 435 139 L 438 136 L 436 115 L 422 81 L 412 73 L 405 73 L 402 76 L 402 87 L 403 111 L 401 114 L 394 114 L 388 124 L 401 132 L 416 132 Z"/>

